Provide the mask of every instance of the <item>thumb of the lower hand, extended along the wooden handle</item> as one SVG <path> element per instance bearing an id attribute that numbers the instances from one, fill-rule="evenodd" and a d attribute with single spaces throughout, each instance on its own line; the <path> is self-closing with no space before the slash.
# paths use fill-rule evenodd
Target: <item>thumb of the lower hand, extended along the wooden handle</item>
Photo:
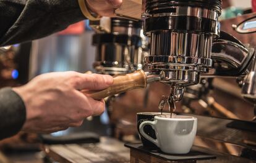
<path id="1" fill-rule="evenodd" d="M 103 74 L 80 74 L 79 82 L 76 82 L 77 90 L 103 90 L 113 84 L 112 76 Z"/>

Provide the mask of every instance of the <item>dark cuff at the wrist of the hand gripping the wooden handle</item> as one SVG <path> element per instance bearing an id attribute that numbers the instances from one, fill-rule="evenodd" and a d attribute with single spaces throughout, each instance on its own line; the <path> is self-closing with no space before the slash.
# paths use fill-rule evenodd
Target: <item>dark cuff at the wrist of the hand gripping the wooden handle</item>
<path id="1" fill-rule="evenodd" d="M 11 88 L 0 89 L 0 140 L 18 133 L 25 120 L 26 108 L 22 98 Z"/>

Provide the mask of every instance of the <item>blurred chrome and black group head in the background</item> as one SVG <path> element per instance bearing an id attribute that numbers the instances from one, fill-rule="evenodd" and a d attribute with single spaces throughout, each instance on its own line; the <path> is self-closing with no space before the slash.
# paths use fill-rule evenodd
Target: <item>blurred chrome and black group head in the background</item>
<path id="1" fill-rule="evenodd" d="M 147 39 L 142 34 L 142 22 L 124 18 L 103 17 L 90 24 L 95 30 L 96 62 L 100 74 L 127 74 L 143 68 L 147 55 Z"/>

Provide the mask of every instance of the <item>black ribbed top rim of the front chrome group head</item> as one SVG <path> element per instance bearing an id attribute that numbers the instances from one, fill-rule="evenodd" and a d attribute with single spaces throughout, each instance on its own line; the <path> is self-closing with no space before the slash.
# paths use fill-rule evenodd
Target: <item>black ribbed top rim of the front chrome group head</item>
<path id="1" fill-rule="evenodd" d="M 166 12 L 168 7 L 174 6 L 203 7 L 205 9 L 216 10 L 220 15 L 222 0 L 147 0 L 146 12 L 149 14 L 158 14 Z"/>

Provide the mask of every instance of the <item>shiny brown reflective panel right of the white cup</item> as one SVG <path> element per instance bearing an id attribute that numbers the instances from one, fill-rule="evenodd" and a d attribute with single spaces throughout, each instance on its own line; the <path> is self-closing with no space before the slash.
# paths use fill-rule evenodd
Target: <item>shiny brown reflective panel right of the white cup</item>
<path id="1" fill-rule="evenodd" d="M 246 158 L 252 162 L 256 161 L 255 122 L 196 117 L 198 118 L 198 130 L 195 146 L 239 156 L 237 159 Z"/>

